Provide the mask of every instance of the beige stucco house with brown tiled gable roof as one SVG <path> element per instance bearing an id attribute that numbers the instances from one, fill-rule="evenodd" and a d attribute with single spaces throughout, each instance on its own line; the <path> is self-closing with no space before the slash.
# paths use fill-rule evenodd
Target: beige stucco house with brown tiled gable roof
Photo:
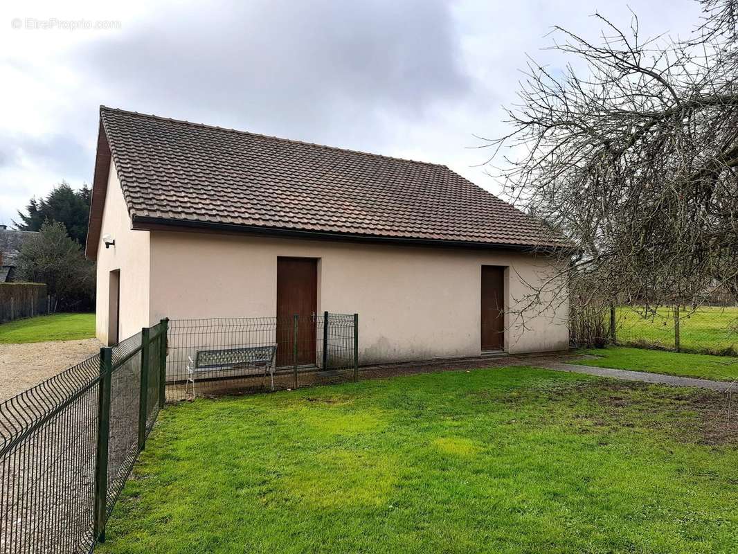
<path id="1" fill-rule="evenodd" d="M 566 349 L 566 298 L 528 306 L 564 282 L 563 244 L 444 165 L 100 108 L 86 255 L 105 343 L 163 317 L 328 310 L 359 314 L 361 363 Z"/>

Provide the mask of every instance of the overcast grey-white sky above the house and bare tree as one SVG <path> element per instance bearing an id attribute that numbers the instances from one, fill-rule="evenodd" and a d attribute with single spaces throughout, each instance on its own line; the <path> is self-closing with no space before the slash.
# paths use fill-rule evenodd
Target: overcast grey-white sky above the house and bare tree
<path id="1" fill-rule="evenodd" d="M 553 25 L 594 38 L 596 10 L 628 24 L 629 6 L 643 35 L 699 17 L 692 0 L 4 0 L 0 223 L 92 182 L 100 104 L 444 163 L 495 191 L 470 147 L 506 131 L 526 54 L 555 71 Z"/>

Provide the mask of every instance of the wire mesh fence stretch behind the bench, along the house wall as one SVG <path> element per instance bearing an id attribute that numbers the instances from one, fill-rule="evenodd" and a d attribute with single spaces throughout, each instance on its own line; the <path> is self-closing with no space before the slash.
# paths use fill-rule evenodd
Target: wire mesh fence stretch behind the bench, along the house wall
<path id="1" fill-rule="evenodd" d="M 355 378 L 355 315 L 169 322 L 168 400 Z"/>

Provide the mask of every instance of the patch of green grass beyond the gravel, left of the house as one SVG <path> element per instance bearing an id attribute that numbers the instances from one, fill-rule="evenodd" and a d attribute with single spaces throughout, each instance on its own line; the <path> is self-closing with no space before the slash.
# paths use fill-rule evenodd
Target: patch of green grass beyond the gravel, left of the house
<path id="1" fill-rule="evenodd" d="M 76 341 L 94 337 L 94 313 L 56 313 L 0 324 L 0 343 Z"/>

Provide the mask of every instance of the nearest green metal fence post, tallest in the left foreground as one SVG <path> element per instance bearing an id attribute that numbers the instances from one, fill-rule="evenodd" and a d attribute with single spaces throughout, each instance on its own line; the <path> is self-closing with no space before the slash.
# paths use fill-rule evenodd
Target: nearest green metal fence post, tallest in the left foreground
<path id="1" fill-rule="evenodd" d="M 97 452 L 94 472 L 94 538 L 105 541 L 108 504 L 108 437 L 110 437 L 112 349 L 100 349 L 100 384 L 97 399 Z"/>

